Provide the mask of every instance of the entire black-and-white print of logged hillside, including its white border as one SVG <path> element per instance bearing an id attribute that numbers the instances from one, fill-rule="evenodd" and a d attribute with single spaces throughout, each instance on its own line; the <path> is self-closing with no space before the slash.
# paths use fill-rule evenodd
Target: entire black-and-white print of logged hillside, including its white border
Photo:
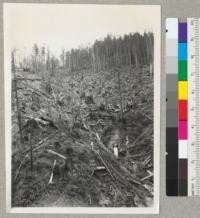
<path id="1" fill-rule="evenodd" d="M 4 4 L 11 213 L 158 213 L 160 6 Z"/>

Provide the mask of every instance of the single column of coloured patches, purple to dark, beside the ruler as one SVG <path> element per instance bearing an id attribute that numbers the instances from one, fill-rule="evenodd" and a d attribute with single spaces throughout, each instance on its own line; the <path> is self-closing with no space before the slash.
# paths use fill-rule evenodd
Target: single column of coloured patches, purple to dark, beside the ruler
<path id="1" fill-rule="evenodd" d="M 188 81 L 187 23 L 178 23 L 178 195 L 187 196 L 188 186 Z"/>

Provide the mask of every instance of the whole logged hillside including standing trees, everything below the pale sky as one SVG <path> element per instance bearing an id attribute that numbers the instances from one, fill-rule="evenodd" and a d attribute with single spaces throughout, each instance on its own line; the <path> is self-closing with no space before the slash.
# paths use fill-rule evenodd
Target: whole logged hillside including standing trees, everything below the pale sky
<path id="1" fill-rule="evenodd" d="M 13 206 L 152 204 L 153 47 L 145 32 L 12 51 Z"/>

